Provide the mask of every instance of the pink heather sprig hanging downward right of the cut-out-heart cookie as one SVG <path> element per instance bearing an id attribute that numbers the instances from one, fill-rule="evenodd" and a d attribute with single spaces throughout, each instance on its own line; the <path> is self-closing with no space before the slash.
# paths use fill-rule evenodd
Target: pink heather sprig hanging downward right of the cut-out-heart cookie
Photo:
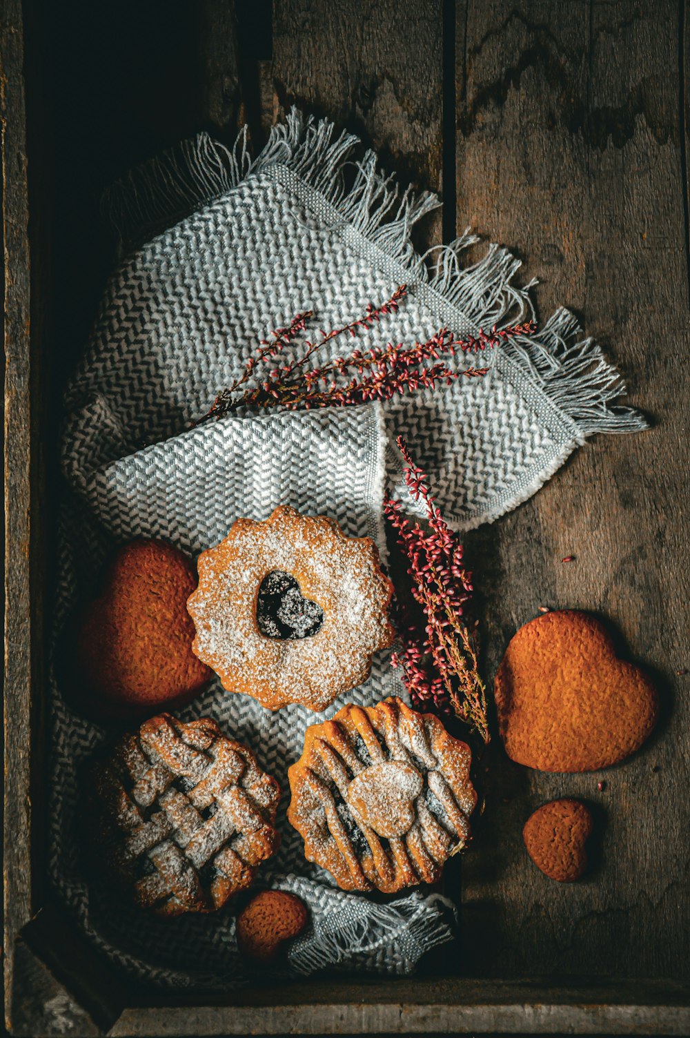
<path id="1" fill-rule="evenodd" d="M 384 513 L 409 563 L 412 596 L 420 606 L 416 617 L 409 608 L 402 610 L 403 652 L 393 662 L 403 668 L 413 706 L 452 711 L 489 742 L 486 689 L 478 674 L 474 636 L 464 619 L 473 589 L 463 547 L 434 503 L 426 475 L 414 464 L 402 436 L 397 445 L 406 461 L 407 487 L 426 508 L 429 531 L 418 522 L 411 523 L 401 502 L 386 496 Z"/>

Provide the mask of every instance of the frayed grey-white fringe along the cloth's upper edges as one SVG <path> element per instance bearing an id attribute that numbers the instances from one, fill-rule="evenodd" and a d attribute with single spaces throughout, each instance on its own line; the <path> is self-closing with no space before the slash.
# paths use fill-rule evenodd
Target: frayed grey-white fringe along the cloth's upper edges
<path id="1" fill-rule="evenodd" d="M 247 176 L 284 165 L 318 191 L 342 217 L 342 225 L 359 231 L 401 267 L 402 276 L 424 283 L 477 330 L 503 328 L 534 317 L 530 290 L 515 282 L 521 261 L 492 243 L 474 263 L 463 253 L 480 239 L 470 229 L 449 245 L 420 256 L 412 245 L 412 226 L 440 202 L 432 192 L 402 191 L 394 176 L 378 166 L 374 151 L 357 160 L 355 134 L 336 136 L 328 119 L 315 121 L 293 108 L 271 130 L 266 147 L 250 160 L 247 128 L 231 148 L 205 134 L 184 141 L 128 173 L 104 197 L 107 213 L 122 249 L 143 242 L 221 197 Z M 576 318 L 558 309 L 537 333 L 501 347 L 518 373 L 536 383 L 585 436 L 630 433 L 646 429 L 637 410 L 618 406 L 626 392 L 623 378 L 601 348 L 584 336 Z"/>

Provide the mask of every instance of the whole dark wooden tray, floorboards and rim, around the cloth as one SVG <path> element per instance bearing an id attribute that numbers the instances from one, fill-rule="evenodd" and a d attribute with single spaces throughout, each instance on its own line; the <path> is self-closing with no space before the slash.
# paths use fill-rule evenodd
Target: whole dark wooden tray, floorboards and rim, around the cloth
<path id="1" fill-rule="evenodd" d="M 1 7 L 7 1027 L 75 1036 L 689 1033 L 684 5 Z M 531 773 L 493 747 L 462 889 L 449 879 L 462 941 L 420 978 L 326 978 L 222 1004 L 161 1005 L 111 974 L 45 887 L 44 603 L 59 399 L 111 264 L 98 221 L 103 187 L 198 129 L 229 141 L 247 120 L 260 146 L 293 102 L 358 132 L 403 180 L 445 185 L 418 246 L 471 223 L 523 254 L 525 277 L 544 282 L 542 313 L 580 309 L 655 418 L 643 435 L 596 438 L 534 498 L 469 536 L 467 552 L 489 676 L 540 605 L 586 608 L 655 671 L 664 717 L 640 754 L 602 774 Z M 565 555 L 576 562 L 561 564 Z M 534 807 L 564 794 L 592 803 L 602 834 L 594 870 L 570 887 L 542 877 L 520 839 Z"/>

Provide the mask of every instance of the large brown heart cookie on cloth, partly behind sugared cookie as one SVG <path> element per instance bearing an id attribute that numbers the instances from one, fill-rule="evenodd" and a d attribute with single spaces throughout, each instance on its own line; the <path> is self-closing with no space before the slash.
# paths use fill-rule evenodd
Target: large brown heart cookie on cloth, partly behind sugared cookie
<path id="1" fill-rule="evenodd" d="M 128 720 L 202 691 L 213 675 L 192 652 L 187 599 L 195 588 L 192 564 L 172 545 L 136 540 L 120 548 L 67 639 L 67 684 L 85 712 Z"/>

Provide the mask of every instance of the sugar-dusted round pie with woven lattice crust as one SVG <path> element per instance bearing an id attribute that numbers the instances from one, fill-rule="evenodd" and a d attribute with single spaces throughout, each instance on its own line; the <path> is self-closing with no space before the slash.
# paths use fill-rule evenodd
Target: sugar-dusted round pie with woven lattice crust
<path id="1" fill-rule="evenodd" d="M 99 852 L 139 905 L 214 911 L 280 843 L 280 788 L 215 720 L 153 717 L 94 768 Z"/>

